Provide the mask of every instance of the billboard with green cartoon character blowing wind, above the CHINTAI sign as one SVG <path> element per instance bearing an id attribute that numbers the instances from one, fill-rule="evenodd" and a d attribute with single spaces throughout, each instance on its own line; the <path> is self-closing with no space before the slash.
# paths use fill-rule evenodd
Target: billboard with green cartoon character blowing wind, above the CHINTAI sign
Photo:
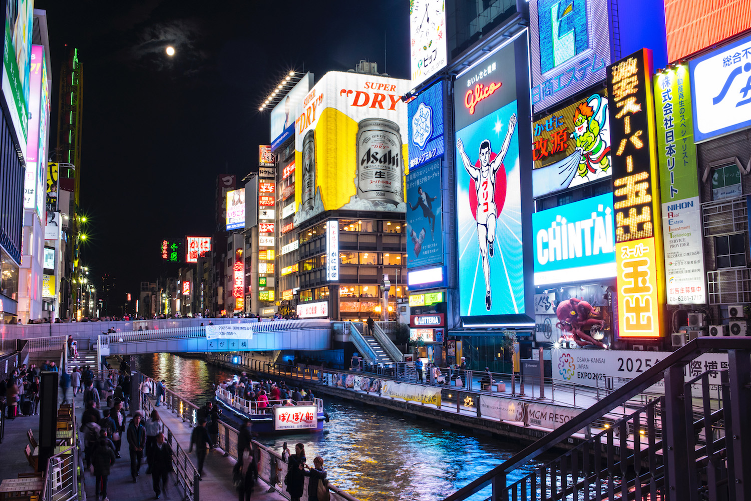
<path id="1" fill-rule="evenodd" d="M 535 122 L 532 141 L 535 198 L 611 177 L 608 90 Z"/>

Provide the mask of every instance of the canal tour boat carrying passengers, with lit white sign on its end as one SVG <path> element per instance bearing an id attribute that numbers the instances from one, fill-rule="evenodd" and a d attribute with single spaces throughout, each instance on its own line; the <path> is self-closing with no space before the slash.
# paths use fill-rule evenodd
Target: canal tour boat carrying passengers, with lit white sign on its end
<path id="1" fill-rule="evenodd" d="M 320 398 L 294 402 L 294 400 L 269 400 L 268 406 L 231 394 L 225 388 L 216 388 L 216 400 L 243 418 L 249 418 L 253 433 L 286 434 L 322 431 L 329 418 Z"/>

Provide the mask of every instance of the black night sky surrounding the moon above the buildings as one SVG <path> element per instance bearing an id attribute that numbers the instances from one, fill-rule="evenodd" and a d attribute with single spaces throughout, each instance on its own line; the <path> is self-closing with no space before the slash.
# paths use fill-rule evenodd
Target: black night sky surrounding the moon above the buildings
<path id="1" fill-rule="evenodd" d="M 60 65 L 68 47 L 80 51 L 82 264 L 95 286 L 114 276 L 118 293 L 137 294 L 163 272 L 164 238 L 213 233 L 216 176 L 240 181 L 258 165 L 258 144 L 270 142 L 270 112 L 258 107 L 288 71 L 318 80 L 368 59 L 409 77 L 406 0 L 37 0 L 35 8 L 47 10 L 50 34 L 51 151 Z"/>

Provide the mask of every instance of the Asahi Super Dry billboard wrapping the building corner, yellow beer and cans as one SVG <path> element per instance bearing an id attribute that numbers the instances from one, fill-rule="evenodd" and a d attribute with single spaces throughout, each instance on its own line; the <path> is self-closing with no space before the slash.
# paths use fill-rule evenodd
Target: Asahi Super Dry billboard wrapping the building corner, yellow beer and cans
<path id="1" fill-rule="evenodd" d="M 295 121 L 297 227 L 324 210 L 404 212 L 409 80 L 330 71 Z"/>

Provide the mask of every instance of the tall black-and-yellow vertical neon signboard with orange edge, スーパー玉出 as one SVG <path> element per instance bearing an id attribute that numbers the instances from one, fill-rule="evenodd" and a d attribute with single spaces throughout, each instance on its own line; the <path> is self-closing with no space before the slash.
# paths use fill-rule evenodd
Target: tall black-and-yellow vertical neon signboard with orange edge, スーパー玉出
<path id="1" fill-rule="evenodd" d="M 652 55 L 641 49 L 608 66 L 613 149 L 618 324 L 622 338 L 662 336 L 665 297 Z M 655 236 L 658 236 L 657 238 Z"/>

